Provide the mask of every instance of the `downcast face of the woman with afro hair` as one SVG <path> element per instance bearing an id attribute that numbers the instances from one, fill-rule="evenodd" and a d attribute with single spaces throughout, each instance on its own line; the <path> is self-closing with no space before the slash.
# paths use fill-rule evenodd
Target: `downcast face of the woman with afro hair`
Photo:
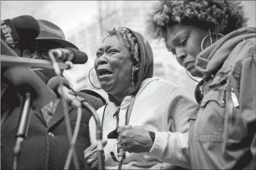
<path id="1" fill-rule="evenodd" d="M 186 68 L 194 77 L 201 77 L 201 73 L 195 69 L 195 60 L 201 52 L 201 42 L 208 32 L 195 26 L 177 24 L 168 27 L 166 34 L 166 46 L 182 67 Z M 205 42 L 210 45 L 210 42 Z"/>

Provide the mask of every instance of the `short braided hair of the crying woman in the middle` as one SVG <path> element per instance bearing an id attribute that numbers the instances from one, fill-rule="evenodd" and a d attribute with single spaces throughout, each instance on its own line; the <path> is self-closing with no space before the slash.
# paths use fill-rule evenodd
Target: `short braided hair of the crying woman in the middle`
<path id="1" fill-rule="evenodd" d="M 140 64 L 140 49 L 138 46 L 138 42 L 133 34 L 126 28 L 114 28 L 111 31 L 106 32 L 106 37 L 117 35 L 118 37 L 122 37 L 125 40 L 125 44 L 131 54 L 131 60 L 134 65 Z M 105 37 L 105 38 L 106 38 Z"/>

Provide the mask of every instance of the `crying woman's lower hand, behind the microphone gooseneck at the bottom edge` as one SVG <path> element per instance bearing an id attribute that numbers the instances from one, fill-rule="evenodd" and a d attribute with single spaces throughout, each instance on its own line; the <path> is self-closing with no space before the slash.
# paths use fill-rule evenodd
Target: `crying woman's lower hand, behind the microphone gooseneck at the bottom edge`
<path id="1" fill-rule="evenodd" d="M 103 142 L 103 148 L 106 146 L 106 143 L 108 141 L 102 141 Z M 105 159 L 105 154 L 103 154 Z M 98 153 L 97 153 L 97 143 L 91 144 L 87 149 L 84 150 L 84 159 L 86 160 L 86 163 L 88 164 L 88 168 L 90 169 L 98 169 Z"/>

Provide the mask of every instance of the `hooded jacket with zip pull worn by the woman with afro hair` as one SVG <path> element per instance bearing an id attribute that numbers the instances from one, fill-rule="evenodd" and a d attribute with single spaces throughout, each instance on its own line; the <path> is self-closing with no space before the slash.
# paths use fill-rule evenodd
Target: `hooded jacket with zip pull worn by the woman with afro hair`
<path id="1" fill-rule="evenodd" d="M 205 81 L 198 115 L 191 117 L 192 169 L 256 168 L 255 40 L 255 29 L 238 29 L 197 57 Z"/>

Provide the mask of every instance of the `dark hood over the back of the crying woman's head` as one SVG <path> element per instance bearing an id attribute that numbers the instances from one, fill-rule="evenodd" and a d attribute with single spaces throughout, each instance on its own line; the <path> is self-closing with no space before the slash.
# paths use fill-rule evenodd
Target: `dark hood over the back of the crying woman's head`
<path id="1" fill-rule="evenodd" d="M 140 52 L 141 64 L 140 64 L 140 69 L 138 70 L 138 80 L 136 82 L 135 90 L 133 90 L 132 93 L 128 94 L 128 95 L 134 95 L 138 93 L 138 91 L 140 90 L 141 82 L 143 82 L 143 80 L 145 80 L 146 78 L 153 77 L 153 65 L 154 65 L 153 51 L 151 49 L 151 46 L 148 40 L 146 40 L 140 33 L 132 31 L 127 27 L 121 27 L 121 28 L 128 29 L 131 32 L 131 34 L 135 36 L 140 49 L 139 52 Z M 113 97 L 110 94 L 108 94 L 108 97 L 110 102 L 112 102 Z"/>

